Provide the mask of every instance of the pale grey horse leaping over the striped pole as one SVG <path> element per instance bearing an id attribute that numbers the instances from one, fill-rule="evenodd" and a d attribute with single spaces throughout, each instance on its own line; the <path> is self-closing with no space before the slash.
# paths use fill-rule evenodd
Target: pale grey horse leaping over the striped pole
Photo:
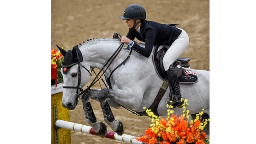
<path id="1" fill-rule="evenodd" d="M 142 43 L 139 45 L 144 46 Z M 101 137 L 106 136 L 107 128 L 104 123 L 97 122 L 91 107 L 91 98 L 101 103 L 104 121 L 118 135 L 122 135 L 123 123 L 115 119 L 110 107 L 123 106 L 134 112 L 144 112 L 143 107 L 148 109 L 151 106 L 163 84 L 154 67 L 153 52 L 149 58 L 145 58 L 139 53 L 124 49 L 119 39 L 93 39 L 69 51 L 58 48 L 64 56 L 61 69 L 64 79 L 62 105 L 70 110 L 75 109 L 80 97 L 86 122 Z M 91 68 L 102 69 L 105 80 L 109 79 L 107 88 L 82 89 L 91 79 Z M 181 95 L 188 100 L 190 114 L 204 109 L 209 115 L 209 71 L 191 70 L 197 75 L 198 81 L 181 83 Z M 169 93 L 170 90 L 166 89 L 158 104 L 157 113 L 160 116 L 167 115 L 166 102 L 169 100 Z M 178 115 L 183 113 L 182 108 L 175 108 L 174 111 Z"/>

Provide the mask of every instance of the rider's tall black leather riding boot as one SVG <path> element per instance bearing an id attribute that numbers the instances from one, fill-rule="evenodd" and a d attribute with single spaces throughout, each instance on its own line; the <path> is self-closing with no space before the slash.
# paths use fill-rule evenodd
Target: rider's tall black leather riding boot
<path id="1" fill-rule="evenodd" d="M 174 95 L 172 100 L 171 100 L 172 96 L 170 96 L 170 101 L 172 101 L 172 103 L 170 101 L 168 101 L 167 103 L 169 105 L 171 104 L 173 108 L 175 107 L 181 108 L 183 102 L 181 102 L 181 91 L 180 91 L 179 80 L 172 64 L 170 65 L 169 69 L 166 71 L 166 74 Z"/>

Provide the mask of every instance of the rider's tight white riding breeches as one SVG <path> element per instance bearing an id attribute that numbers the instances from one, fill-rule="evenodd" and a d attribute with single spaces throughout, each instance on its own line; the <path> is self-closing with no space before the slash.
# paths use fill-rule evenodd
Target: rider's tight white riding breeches
<path id="1" fill-rule="evenodd" d="M 181 29 L 181 28 L 179 28 Z M 187 32 L 181 29 L 180 36 L 171 44 L 171 47 L 166 51 L 163 58 L 163 65 L 165 71 L 169 69 L 170 65 L 178 59 L 182 53 L 187 49 L 189 38 Z"/>

